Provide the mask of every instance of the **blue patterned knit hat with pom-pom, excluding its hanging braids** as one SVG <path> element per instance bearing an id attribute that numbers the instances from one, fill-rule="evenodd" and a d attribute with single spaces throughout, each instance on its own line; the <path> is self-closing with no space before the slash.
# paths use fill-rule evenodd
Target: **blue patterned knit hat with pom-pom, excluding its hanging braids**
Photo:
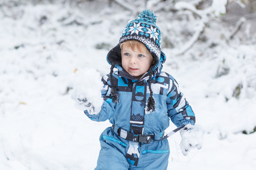
<path id="1" fill-rule="evenodd" d="M 156 15 L 151 10 L 142 11 L 138 17 L 131 20 L 122 31 L 121 38 L 107 56 L 110 65 L 121 66 L 121 48 L 120 44 L 127 40 L 137 40 L 142 42 L 152 54 L 156 63 L 151 71 L 157 69 L 161 55 L 161 32 L 156 26 Z"/>

